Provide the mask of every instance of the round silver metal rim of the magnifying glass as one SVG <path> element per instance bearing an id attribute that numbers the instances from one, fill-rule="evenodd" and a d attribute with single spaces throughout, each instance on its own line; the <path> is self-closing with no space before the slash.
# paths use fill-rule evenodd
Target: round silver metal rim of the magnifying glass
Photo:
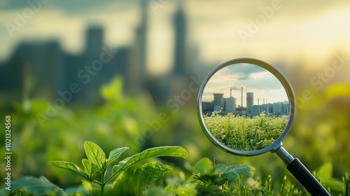
<path id="1" fill-rule="evenodd" d="M 289 120 L 288 124 L 286 126 L 286 129 L 283 130 L 281 136 L 274 141 L 271 145 L 267 146 L 266 148 L 259 149 L 257 151 L 240 151 L 237 149 L 229 148 L 228 146 L 225 146 L 224 144 L 221 143 L 221 141 L 218 141 L 216 137 L 211 134 L 209 129 L 207 128 L 207 125 L 204 123 L 204 116 L 202 113 L 202 95 L 204 92 L 204 88 L 206 87 L 208 81 L 216 72 L 221 70 L 225 66 L 229 66 L 232 64 L 240 64 L 240 63 L 246 63 L 246 64 L 253 64 L 256 66 L 260 66 L 263 69 L 266 69 L 270 73 L 272 73 L 278 80 L 279 82 L 283 85 L 284 89 L 286 90 L 287 96 L 288 96 L 288 101 L 289 101 L 289 106 L 290 106 L 290 112 L 289 112 Z M 230 59 L 226 62 L 223 62 L 222 64 L 219 64 L 216 66 L 216 68 L 209 73 L 207 78 L 205 78 L 204 82 L 202 83 L 202 86 L 200 87 L 200 92 L 198 93 L 198 98 L 197 98 L 197 111 L 198 111 L 198 118 L 200 120 L 200 125 L 202 126 L 202 130 L 204 131 L 204 134 L 208 137 L 208 139 L 213 143 L 215 146 L 218 148 L 221 148 L 221 150 L 226 151 L 228 153 L 232 153 L 235 155 L 242 155 L 242 156 L 253 156 L 253 155 L 260 155 L 262 153 L 266 153 L 268 151 L 276 151 L 278 148 L 282 146 L 281 141 L 286 137 L 288 134 L 290 127 L 292 126 L 293 120 L 294 120 L 294 115 L 295 115 L 295 96 L 293 89 L 286 79 L 286 77 L 274 66 L 271 64 L 268 64 L 267 62 L 264 62 L 260 59 L 255 59 L 251 57 L 241 57 L 241 58 L 236 58 L 236 59 Z"/>

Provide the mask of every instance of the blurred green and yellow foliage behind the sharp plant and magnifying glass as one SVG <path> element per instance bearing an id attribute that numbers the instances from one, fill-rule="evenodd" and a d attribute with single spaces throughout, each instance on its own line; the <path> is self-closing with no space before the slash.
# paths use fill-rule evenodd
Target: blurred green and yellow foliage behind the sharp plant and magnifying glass
<path id="1" fill-rule="evenodd" d="M 302 90 L 307 88 L 302 85 Z M 327 189 L 332 190 L 332 195 L 346 195 L 346 193 L 349 195 L 349 175 L 344 176 L 344 172 L 349 172 L 350 165 L 350 85 L 325 86 L 323 90 L 318 91 L 312 91 L 312 87 L 309 89 L 312 98 L 304 100 L 304 105 L 297 99 L 297 114 L 288 136 L 283 140 L 283 146 L 293 157 L 302 160 L 310 171 L 315 170 L 316 177 L 321 179 Z M 302 90 L 295 91 L 296 98 L 302 97 Z M 75 94 L 73 99 L 74 97 Z M 258 176 L 254 179 L 261 183 L 265 195 L 278 195 L 285 175 L 288 179 L 286 188 L 293 185 L 294 189 L 302 191 L 300 183 L 286 171 L 286 166 L 274 153 L 246 158 L 228 155 L 214 148 L 198 123 L 196 100 L 189 100 L 183 106 L 179 106 L 179 110 L 169 108 L 166 104 L 156 107 L 147 94 L 138 94 L 137 97 L 123 94 L 123 80 L 116 78 L 103 87 L 102 96 L 96 102 L 83 104 L 73 102 L 72 99 L 71 102 L 66 102 L 62 109 L 57 109 L 57 113 L 48 115 L 49 120 L 41 126 L 36 115 L 45 114 L 50 108 L 48 105 L 53 105 L 56 98 L 58 96 L 52 99 L 31 97 L 25 103 L 0 102 L 1 116 L 10 114 L 13 118 L 11 138 L 13 184 L 27 176 L 45 176 L 52 183 L 64 188 L 64 193 L 82 190 L 82 187 L 74 187 L 81 183 L 80 175 L 52 169 L 47 162 L 50 160 L 80 162 L 85 158 L 82 149 L 84 141 L 94 141 L 105 151 L 112 151 L 116 144 L 130 147 L 120 158 L 125 158 L 125 154 L 128 153 L 130 154 L 128 156 L 132 156 L 153 146 L 171 145 L 186 148 L 190 156 L 185 162 L 162 158 L 162 162 L 174 163 L 173 171 L 165 173 L 162 181 L 153 183 L 148 189 L 148 195 L 197 194 L 192 165 L 202 158 L 212 159 L 214 156 L 225 165 L 232 165 L 232 160 L 236 165 L 252 165 L 255 168 L 254 176 Z M 141 140 L 144 130 L 153 128 L 148 122 L 157 120 L 160 113 L 167 114 L 167 122 L 154 129 L 153 137 Z M 4 139 L 4 134 L 0 134 L 0 140 Z M 4 145 L 0 144 L 1 154 L 4 153 Z M 0 165 L 2 164 L 0 162 Z M 328 164 L 332 167 L 325 166 Z M 321 169 L 323 167 L 328 169 Z M 84 169 L 83 165 L 80 168 Z M 5 169 L 0 169 L 0 176 L 5 176 L 3 172 Z M 124 174 L 132 178 L 134 171 L 127 169 L 118 176 L 118 179 Z M 339 181 L 342 181 L 342 178 L 342 191 L 335 191 L 339 188 Z M 130 181 L 130 184 L 134 185 L 134 181 L 132 179 Z M 266 183 L 267 181 L 269 183 Z M 3 180 L 0 179 L 0 182 Z M 229 184 L 231 189 L 234 187 L 239 189 L 238 182 L 230 183 L 234 183 L 234 186 Z M 270 188 L 265 188 L 267 185 Z M 267 194 L 267 190 L 272 190 L 273 194 Z M 25 191 L 17 192 L 13 195 L 23 195 Z"/>

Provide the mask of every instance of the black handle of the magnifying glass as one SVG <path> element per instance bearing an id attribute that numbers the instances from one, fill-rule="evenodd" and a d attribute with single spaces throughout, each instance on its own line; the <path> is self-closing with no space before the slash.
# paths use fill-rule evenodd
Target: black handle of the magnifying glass
<path id="1" fill-rule="evenodd" d="M 289 172 L 295 176 L 295 179 L 297 179 L 311 195 L 330 195 L 314 175 L 302 165 L 302 162 L 297 158 L 293 158 L 283 147 L 279 148 L 276 154 L 279 155 L 287 165 Z"/>

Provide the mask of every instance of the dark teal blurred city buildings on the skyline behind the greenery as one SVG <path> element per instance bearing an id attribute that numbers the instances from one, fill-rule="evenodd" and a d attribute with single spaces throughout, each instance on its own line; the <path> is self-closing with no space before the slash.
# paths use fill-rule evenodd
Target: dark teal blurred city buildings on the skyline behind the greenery
<path id="1" fill-rule="evenodd" d="M 71 103 L 91 103 L 98 99 L 102 85 L 110 83 L 115 76 L 123 76 L 127 94 L 151 92 L 156 103 L 165 102 L 176 90 L 177 82 L 186 84 L 198 63 L 191 61 L 190 58 L 197 57 L 186 47 L 186 13 L 179 6 L 172 16 L 175 39 L 172 70 L 152 77 L 146 71 L 146 50 L 152 45 L 147 41 L 148 1 L 140 1 L 139 6 L 141 22 L 134 31 L 134 41 L 125 47 L 106 43 L 102 25 L 87 27 L 85 50 L 78 55 L 64 50 L 57 39 L 20 42 L 9 59 L 0 64 L 0 89 L 4 97 L 7 101 L 20 102 L 25 86 L 30 85 L 30 97 L 52 99 L 77 83 L 81 90 L 74 94 Z"/>

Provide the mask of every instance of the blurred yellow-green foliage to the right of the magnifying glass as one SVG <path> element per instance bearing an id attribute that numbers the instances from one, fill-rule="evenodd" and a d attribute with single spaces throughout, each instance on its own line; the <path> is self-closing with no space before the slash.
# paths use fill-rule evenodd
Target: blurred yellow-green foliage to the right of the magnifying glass
<path id="1" fill-rule="evenodd" d="M 303 157 L 305 165 L 332 162 L 333 175 L 341 179 L 350 168 L 350 84 L 311 88 L 309 93 L 310 99 L 297 104 L 293 130 L 283 144 L 295 148 L 293 155 Z"/>

